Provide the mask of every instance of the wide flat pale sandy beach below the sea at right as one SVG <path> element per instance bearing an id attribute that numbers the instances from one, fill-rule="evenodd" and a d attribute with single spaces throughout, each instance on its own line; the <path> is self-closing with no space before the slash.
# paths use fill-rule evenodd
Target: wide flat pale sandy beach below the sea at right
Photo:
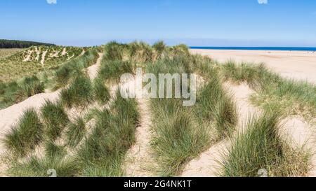
<path id="1" fill-rule="evenodd" d="M 228 59 L 234 59 L 236 62 L 264 62 L 285 78 L 316 83 L 316 52 L 202 49 L 191 49 L 190 52 L 209 56 L 218 62 L 225 62 Z"/>

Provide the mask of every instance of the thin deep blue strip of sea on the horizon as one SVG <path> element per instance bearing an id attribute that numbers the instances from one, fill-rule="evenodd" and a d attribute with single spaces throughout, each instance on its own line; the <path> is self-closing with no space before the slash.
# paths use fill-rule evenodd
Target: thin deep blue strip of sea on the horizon
<path id="1" fill-rule="evenodd" d="M 213 47 L 213 46 L 190 46 L 190 49 L 204 50 L 280 50 L 280 51 L 312 51 L 315 47 Z"/>

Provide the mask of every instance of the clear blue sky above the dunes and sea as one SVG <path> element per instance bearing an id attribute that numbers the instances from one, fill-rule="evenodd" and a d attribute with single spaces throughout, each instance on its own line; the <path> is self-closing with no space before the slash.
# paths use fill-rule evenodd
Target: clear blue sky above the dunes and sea
<path id="1" fill-rule="evenodd" d="M 0 38 L 209 46 L 316 46 L 315 0 L 1 0 Z"/>

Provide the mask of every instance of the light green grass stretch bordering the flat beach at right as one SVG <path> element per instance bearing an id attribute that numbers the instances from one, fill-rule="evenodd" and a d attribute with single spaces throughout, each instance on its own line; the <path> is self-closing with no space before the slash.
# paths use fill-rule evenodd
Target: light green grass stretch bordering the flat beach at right
<path id="1" fill-rule="evenodd" d="M 263 108 L 282 108 L 287 115 L 303 115 L 306 120 L 316 116 L 316 86 L 298 80 L 281 78 L 264 64 L 228 62 L 222 66 L 226 79 L 246 82 L 257 94 L 251 97 L 254 104 Z"/>

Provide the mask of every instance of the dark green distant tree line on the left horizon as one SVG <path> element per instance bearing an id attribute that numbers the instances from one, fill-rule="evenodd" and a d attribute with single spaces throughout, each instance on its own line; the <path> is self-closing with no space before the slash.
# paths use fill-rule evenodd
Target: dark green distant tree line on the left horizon
<path id="1" fill-rule="evenodd" d="M 32 41 L 13 41 L 0 39 L 0 48 L 29 48 L 32 45 L 47 45 L 52 46 L 54 44 L 38 43 Z"/>

